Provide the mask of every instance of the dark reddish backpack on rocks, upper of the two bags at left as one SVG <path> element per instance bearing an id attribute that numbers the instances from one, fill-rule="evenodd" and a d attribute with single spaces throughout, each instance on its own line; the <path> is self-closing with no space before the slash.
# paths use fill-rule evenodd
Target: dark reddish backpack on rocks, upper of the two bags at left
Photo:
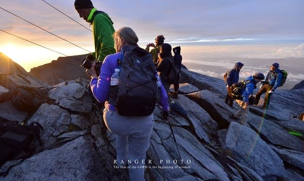
<path id="1" fill-rule="evenodd" d="M 46 92 L 36 87 L 18 86 L 13 90 L 12 102 L 21 111 L 33 112 L 43 103 L 55 103 Z"/>

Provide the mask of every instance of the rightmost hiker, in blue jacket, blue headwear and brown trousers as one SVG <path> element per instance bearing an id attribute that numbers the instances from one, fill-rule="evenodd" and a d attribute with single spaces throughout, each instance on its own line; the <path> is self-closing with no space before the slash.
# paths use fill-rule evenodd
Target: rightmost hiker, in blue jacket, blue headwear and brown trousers
<path id="1" fill-rule="evenodd" d="M 267 109 L 270 102 L 270 96 L 281 84 L 282 77 L 282 73 L 279 69 L 279 63 L 273 63 L 270 66 L 270 71 L 266 76 L 265 82 L 260 86 L 259 91 L 255 94 L 256 103 L 258 103 L 261 95 L 266 92 L 264 104 L 261 107 L 263 110 Z"/>

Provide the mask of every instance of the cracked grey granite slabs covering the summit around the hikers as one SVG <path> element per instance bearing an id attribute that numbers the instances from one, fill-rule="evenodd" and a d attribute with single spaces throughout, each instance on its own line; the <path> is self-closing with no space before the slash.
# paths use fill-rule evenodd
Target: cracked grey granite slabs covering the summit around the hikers
<path id="1" fill-rule="evenodd" d="M 12 89 L 3 82 L 0 95 Z M 45 128 L 44 145 L 36 144 L 35 154 L 25 160 L 3 165 L 0 172 L 16 164 L 1 180 L 128 180 L 127 169 L 115 168 L 115 135 L 104 125 L 103 105 L 91 97 L 88 83 L 80 78 L 45 86 L 56 103 L 44 103 L 32 114 L 19 111 L 11 101 L 0 103 L 0 117 L 36 121 Z M 289 133 L 304 134 L 304 122 L 293 118 L 304 111 L 303 94 L 304 89 L 276 90 L 268 110 L 250 106 L 244 126 L 229 118 L 239 106 L 224 103 L 223 80 L 182 68 L 179 95 L 172 100 L 187 117 L 170 114 L 175 142 L 156 106 L 145 178 L 304 180 L 304 138 Z"/>

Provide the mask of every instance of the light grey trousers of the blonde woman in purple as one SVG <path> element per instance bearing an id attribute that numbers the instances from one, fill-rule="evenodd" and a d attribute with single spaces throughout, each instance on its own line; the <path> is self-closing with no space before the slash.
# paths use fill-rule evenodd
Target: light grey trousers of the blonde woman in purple
<path id="1" fill-rule="evenodd" d="M 125 166 L 128 163 L 130 180 L 144 180 L 144 160 L 150 146 L 153 115 L 121 116 L 105 108 L 103 119 L 106 127 L 116 134 L 117 165 Z"/>

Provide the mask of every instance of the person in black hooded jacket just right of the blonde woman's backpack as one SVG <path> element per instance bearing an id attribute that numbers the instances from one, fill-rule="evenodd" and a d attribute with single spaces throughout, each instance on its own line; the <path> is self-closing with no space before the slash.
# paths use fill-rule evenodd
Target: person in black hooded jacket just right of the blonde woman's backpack
<path id="1" fill-rule="evenodd" d="M 168 94 L 169 88 L 171 86 L 170 83 L 167 82 L 167 76 L 170 71 L 170 59 L 172 59 L 171 54 L 172 47 L 169 44 L 163 44 L 160 48 L 160 53 L 158 54 L 159 61 L 156 64 L 156 69 L 160 74 L 161 82 Z"/>

